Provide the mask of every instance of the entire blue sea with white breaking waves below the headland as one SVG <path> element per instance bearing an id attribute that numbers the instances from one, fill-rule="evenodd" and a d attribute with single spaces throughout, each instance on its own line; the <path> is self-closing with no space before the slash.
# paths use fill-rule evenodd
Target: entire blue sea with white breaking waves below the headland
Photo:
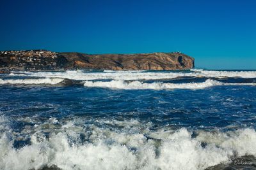
<path id="1" fill-rule="evenodd" d="M 256 169 L 256 71 L 0 74 L 0 169 Z"/>

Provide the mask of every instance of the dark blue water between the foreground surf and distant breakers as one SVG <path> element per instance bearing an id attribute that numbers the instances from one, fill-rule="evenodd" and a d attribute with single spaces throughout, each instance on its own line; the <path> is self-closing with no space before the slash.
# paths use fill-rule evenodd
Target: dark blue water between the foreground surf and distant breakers
<path id="1" fill-rule="evenodd" d="M 10 117 L 111 117 L 152 121 L 156 126 L 214 129 L 255 127 L 256 88 L 116 90 L 86 87 L 0 89 L 1 111 Z M 16 127 L 19 129 L 20 127 Z M 232 127 L 233 128 L 233 127 Z"/>

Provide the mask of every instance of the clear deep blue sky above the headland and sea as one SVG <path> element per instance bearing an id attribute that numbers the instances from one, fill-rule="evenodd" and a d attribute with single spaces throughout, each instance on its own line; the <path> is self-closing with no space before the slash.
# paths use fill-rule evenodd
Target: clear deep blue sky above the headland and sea
<path id="1" fill-rule="evenodd" d="M 0 50 L 181 51 L 196 67 L 256 69 L 254 0 L 1 0 Z"/>

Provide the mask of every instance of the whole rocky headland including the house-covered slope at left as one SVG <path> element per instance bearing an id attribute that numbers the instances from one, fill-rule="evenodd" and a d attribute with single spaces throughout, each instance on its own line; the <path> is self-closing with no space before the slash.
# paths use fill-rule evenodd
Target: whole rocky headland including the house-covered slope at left
<path id="1" fill-rule="evenodd" d="M 183 53 L 101 54 L 56 53 L 47 50 L 0 52 L 5 70 L 175 70 L 191 69 L 194 59 Z"/>

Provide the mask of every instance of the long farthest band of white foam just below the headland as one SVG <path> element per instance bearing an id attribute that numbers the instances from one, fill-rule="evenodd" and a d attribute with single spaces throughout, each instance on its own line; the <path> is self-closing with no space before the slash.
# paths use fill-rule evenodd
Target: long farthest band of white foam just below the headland
<path id="1" fill-rule="evenodd" d="M 104 72 L 84 72 L 84 71 L 66 71 L 66 72 L 19 72 L 27 76 L 46 77 L 46 78 L 68 78 L 70 80 L 161 80 L 172 79 L 180 76 L 195 77 L 241 77 L 256 78 L 256 71 L 205 71 L 195 70 L 190 73 L 170 72 L 170 71 L 104 71 Z M 12 76 L 19 74 L 11 73 Z"/>

